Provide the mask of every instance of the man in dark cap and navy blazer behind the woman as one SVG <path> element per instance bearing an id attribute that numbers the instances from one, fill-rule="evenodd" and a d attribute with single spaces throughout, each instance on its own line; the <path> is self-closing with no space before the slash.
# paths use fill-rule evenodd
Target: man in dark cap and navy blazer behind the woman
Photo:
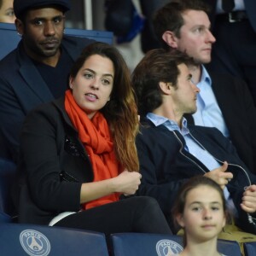
<path id="1" fill-rule="evenodd" d="M 26 114 L 68 88 L 68 74 L 93 40 L 64 36 L 68 0 L 15 0 L 20 44 L 0 61 L 0 157 L 16 162 Z"/>

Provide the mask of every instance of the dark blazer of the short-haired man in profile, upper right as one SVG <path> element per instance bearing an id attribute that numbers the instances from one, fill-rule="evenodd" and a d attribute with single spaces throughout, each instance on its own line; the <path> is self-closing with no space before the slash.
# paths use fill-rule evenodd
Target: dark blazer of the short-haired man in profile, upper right
<path id="1" fill-rule="evenodd" d="M 212 90 L 230 131 L 230 140 L 247 168 L 256 174 L 256 108 L 247 85 L 229 74 L 209 74 Z M 194 124 L 191 115 L 185 116 Z"/>

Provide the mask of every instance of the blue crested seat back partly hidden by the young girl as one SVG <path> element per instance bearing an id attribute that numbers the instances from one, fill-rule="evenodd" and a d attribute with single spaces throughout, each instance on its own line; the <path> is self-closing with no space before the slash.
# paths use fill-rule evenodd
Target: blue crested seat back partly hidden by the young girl
<path id="1" fill-rule="evenodd" d="M 111 238 L 114 256 L 163 256 L 183 250 L 182 236 L 119 233 L 113 234 Z M 225 255 L 241 256 L 236 241 L 218 240 L 218 251 Z"/>

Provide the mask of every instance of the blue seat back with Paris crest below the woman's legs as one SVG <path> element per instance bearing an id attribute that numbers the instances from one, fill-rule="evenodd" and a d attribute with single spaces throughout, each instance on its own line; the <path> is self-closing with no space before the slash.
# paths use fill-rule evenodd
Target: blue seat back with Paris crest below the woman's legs
<path id="1" fill-rule="evenodd" d="M 32 224 L 0 224 L 1 255 L 108 256 L 105 235 Z"/>

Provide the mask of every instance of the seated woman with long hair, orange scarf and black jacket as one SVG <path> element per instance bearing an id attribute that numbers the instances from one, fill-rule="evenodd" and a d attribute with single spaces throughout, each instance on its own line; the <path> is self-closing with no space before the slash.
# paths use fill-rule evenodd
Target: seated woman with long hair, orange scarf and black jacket
<path id="1" fill-rule="evenodd" d="M 104 232 L 172 233 L 158 203 L 135 194 L 137 106 L 113 46 L 87 46 L 70 89 L 34 109 L 20 136 L 20 223 Z"/>

